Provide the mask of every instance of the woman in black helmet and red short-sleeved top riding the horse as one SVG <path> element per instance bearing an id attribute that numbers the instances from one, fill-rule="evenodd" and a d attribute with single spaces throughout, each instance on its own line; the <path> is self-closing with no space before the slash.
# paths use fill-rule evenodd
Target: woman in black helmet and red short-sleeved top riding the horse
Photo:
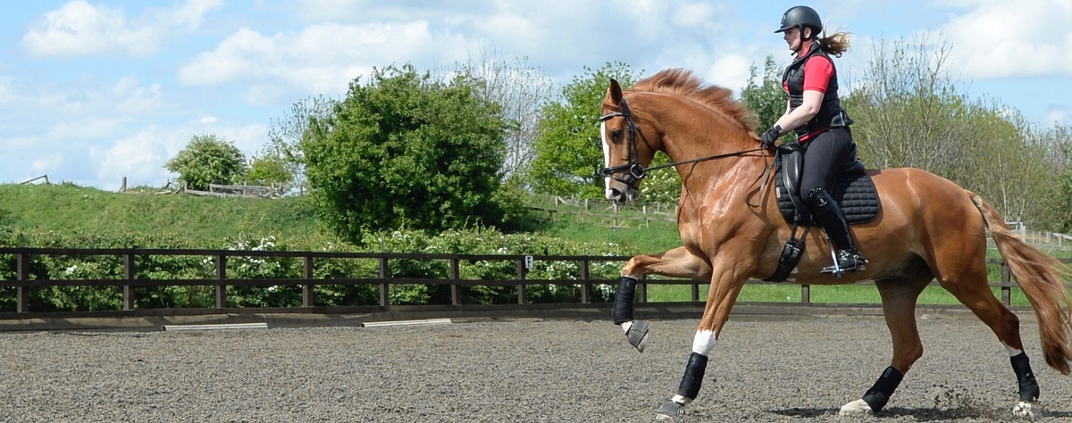
<path id="1" fill-rule="evenodd" d="M 848 50 L 849 34 L 819 36 L 821 31 L 822 20 L 812 7 L 794 6 L 781 15 L 781 27 L 775 32 L 784 33 L 795 55 L 781 77 L 789 100 L 785 115 L 763 133 L 761 142 L 769 148 L 779 136 L 796 132 L 804 149 L 801 197 L 806 199 L 815 222 L 837 247 L 834 266 L 823 272 L 839 273 L 863 270 L 867 260 L 852 243 L 845 214 L 829 193 L 842 165 L 857 160 L 857 145 L 849 130 L 852 120 L 838 102 L 837 72 L 830 59 Z"/>

